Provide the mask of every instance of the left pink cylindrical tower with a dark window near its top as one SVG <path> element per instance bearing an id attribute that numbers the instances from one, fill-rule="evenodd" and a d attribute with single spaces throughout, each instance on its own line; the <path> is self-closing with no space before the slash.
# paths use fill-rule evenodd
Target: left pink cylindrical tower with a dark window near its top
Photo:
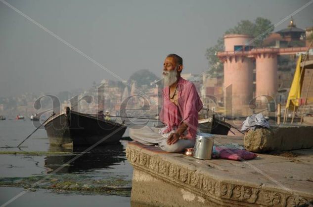
<path id="1" fill-rule="evenodd" d="M 225 35 L 225 52 L 218 55 L 224 62 L 224 89 L 232 85 L 234 114 L 241 114 L 243 106 L 253 98 L 253 60 L 245 55 L 251 49 L 249 42 L 252 38 L 249 35 Z"/>

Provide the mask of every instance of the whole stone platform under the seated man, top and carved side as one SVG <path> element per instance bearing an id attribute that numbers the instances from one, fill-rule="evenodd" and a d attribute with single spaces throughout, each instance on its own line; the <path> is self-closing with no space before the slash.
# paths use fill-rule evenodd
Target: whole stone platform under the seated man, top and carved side
<path id="1" fill-rule="evenodd" d="M 243 138 L 220 136 L 215 143 Z M 313 149 L 249 161 L 198 160 L 130 142 L 132 206 L 297 206 L 313 200 Z"/>

